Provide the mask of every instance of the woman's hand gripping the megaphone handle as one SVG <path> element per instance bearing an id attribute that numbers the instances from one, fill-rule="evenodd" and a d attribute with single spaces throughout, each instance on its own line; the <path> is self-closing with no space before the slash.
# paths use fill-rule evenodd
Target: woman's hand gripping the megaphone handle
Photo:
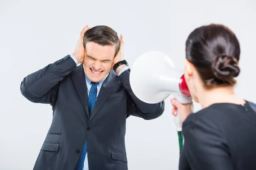
<path id="1" fill-rule="evenodd" d="M 182 125 L 183 122 L 185 121 L 185 119 L 187 118 L 187 116 L 189 116 L 189 114 L 193 113 L 193 111 L 194 111 L 193 102 L 188 103 L 188 104 L 181 104 L 176 99 L 171 99 L 171 103 L 173 105 L 172 115 L 177 116 L 177 113 L 178 113 L 177 110 L 179 110 L 180 123 Z"/>

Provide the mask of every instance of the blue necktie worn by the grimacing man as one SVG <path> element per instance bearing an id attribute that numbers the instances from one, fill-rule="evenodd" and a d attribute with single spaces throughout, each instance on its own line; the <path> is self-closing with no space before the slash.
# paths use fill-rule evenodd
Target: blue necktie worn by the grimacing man
<path id="1" fill-rule="evenodd" d="M 96 97 L 97 97 L 97 85 L 99 82 L 91 82 L 92 86 L 90 88 L 89 92 L 89 97 L 88 97 L 88 109 L 89 109 L 89 115 L 93 112 L 93 108 L 96 102 Z M 75 170 L 82 170 L 84 167 L 84 159 L 85 155 L 87 153 L 87 140 L 85 141 L 82 153 L 80 155 L 80 158 L 76 164 L 76 169 Z"/>

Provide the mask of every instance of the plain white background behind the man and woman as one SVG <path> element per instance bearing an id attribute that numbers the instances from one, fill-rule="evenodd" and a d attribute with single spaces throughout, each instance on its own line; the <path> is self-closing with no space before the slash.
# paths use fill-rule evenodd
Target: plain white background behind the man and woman
<path id="1" fill-rule="evenodd" d="M 210 23 L 230 27 L 239 38 L 236 93 L 256 102 L 255 0 L 0 0 L 0 170 L 32 170 L 52 108 L 25 99 L 20 82 L 72 53 L 85 25 L 107 25 L 123 34 L 131 67 L 140 54 L 157 50 L 183 69 L 186 38 Z M 177 170 L 179 147 L 171 109 L 166 99 L 158 119 L 128 118 L 129 170 Z"/>

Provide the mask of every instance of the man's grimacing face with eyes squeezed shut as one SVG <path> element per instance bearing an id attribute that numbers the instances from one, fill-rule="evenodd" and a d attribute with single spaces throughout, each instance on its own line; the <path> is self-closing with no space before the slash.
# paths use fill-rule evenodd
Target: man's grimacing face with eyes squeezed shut
<path id="1" fill-rule="evenodd" d="M 116 48 L 114 45 L 99 45 L 86 42 L 84 52 L 84 71 L 92 82 L 100 82 L 111 71 Z"/>

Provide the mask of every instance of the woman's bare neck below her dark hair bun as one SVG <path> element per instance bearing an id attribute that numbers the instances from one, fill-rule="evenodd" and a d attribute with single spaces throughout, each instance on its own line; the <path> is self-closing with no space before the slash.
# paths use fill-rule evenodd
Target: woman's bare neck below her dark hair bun
<path id="1" fill-rule="evenodd" d="M 237 105 L 244 105 L 245 101 L 235 95 L 232 87 L 219 87 L 211 90 L 200 90 L 198 94 L 198 102 L 202 108 L 215 103 L 234 103 Z"/>

